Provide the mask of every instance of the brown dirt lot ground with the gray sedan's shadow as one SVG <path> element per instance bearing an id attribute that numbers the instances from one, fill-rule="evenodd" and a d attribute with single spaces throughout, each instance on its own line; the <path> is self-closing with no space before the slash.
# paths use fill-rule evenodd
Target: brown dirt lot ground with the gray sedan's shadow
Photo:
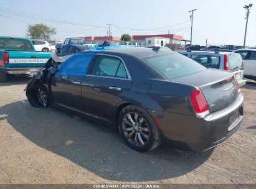
<path id="1" fill-rule="evenodd" d="M 239 131 L 205 153 L 131 150 L 110 126 L 32 108 L 26 78 L 0 83 L 0 183 L 256 183 L 256 83 Z"/>

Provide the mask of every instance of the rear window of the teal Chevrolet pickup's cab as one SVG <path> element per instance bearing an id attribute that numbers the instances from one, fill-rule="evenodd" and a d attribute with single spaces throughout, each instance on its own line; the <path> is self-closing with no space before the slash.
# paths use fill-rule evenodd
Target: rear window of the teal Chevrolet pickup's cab
<path id="1" fill-rule="evenodd" d="M 26 39 L 0 39 L 0 48 L 11 50 L 34 50 L 31 42 Z"/>

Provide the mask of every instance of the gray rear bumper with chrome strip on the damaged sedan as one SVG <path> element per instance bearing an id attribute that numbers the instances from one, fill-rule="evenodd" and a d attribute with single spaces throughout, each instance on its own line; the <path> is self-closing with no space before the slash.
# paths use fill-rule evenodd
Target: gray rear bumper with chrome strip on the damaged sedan
<path id="1" fill-rule="evenodd" d="M 237 131 L 244 116 L 244 97 L 239 97 L 228 108 L 197 118 L 184 114 L 161 112 L 158 118 L 163 141 L 178 149 L 206 151 Z"/>

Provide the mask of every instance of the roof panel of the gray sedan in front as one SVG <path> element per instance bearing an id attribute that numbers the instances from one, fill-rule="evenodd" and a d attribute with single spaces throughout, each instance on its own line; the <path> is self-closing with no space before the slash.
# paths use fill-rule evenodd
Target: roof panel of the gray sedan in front
<path id="1" fill-rule="evenodd" d="M 111 47 L 111 46 L 110 46 Z M 112 55 L 131 55 L 136 58 L 145 58 L 155 55 L 164 55 L 166 53 L 176 53 L 169 48 L 159 48 L 159 50 L 154 50 L 154 48 L 145 48 L 145 47 L 117 47 L 109 48 L 106 50 L 90 50 L 89 52 L 95 53 L 106 53 Z"/>

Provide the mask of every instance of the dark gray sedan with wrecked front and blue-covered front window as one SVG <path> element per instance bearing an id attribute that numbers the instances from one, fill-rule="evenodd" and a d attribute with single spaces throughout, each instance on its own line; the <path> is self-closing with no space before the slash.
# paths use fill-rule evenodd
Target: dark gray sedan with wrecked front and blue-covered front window
<path id="1" fill-rule="evenodd" d="M 118 127 L 131 148 L 161 141 L 204 151 L 234 134 L 244 98 L 234 74 L 164 48 L 109 47 L 49 61 L 26 88 L 32 106 L 62 106 Z"/>

